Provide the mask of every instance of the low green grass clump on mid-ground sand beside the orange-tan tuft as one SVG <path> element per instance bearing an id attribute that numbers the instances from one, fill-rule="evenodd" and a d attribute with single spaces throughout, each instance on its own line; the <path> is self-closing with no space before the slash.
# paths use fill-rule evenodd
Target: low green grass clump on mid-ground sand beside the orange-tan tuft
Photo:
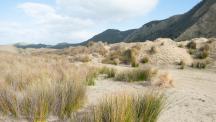
<path id="1" fill-rule="evenodd" d="M 157 74 L 157 71 L 151 68 L 133 69 L 130 71 L 117 74 L 115 80 L 126 81 L 126 82 L 146 81 L 146 80 L 151 80 L 155 74 Z"/>

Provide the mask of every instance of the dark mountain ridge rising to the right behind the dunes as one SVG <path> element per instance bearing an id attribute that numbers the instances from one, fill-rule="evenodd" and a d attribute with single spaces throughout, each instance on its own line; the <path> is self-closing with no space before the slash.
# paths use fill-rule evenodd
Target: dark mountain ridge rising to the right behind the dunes
<path id="1" fill-rule="evenodd" d="M 106 30 L 88 41 L 136 42 L 171 38 L 188 40 L 197 37 L 216 37 L 216 0 L 203 0 L 189 12 L 165 20 L 152 21 L 129 31 Z M 88 42 L 87 41 L 87 42 Z"/>

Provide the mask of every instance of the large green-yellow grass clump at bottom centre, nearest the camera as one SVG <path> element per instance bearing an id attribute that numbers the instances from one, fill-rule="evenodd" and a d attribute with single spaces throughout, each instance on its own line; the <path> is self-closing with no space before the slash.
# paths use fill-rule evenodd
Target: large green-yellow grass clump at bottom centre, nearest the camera
<path id="1" fill-rule="evenodd" d="M 93 117 L 84 122 L 156 122 L 165 108 L 166 99 L 159 93 L 115 95 L 94 107 Z M 88 119 L 86 119 L 88 118 Z"/>

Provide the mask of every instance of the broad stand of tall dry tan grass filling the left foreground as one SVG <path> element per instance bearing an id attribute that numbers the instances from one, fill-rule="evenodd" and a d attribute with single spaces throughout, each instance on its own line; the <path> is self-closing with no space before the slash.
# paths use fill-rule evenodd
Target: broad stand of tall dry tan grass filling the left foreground
<path id="1" fill-rule="evenodd" d="M 90 69 L 64 58 L 0 53 L 0 112 L 45 121 L 70 117 L 85 100 Z"/>

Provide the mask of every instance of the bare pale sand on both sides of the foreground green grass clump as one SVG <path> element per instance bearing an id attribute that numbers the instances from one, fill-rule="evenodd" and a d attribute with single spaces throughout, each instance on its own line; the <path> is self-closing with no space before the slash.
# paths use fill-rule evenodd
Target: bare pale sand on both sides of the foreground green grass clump
<path id="1" fill-rule="evenodd" d="M 161 69 L 169 72 L 175 87 L 165 89 L 168 106 L 158 122 L 216 122 L 216 73 L 206 70 L 176 68 Z M 116 82 L 99 79 L 87 90 L 85 109 L 96 105 L 103 97 L 119 92 L 146 92 L 153 87 L 148 83 Z"/>

